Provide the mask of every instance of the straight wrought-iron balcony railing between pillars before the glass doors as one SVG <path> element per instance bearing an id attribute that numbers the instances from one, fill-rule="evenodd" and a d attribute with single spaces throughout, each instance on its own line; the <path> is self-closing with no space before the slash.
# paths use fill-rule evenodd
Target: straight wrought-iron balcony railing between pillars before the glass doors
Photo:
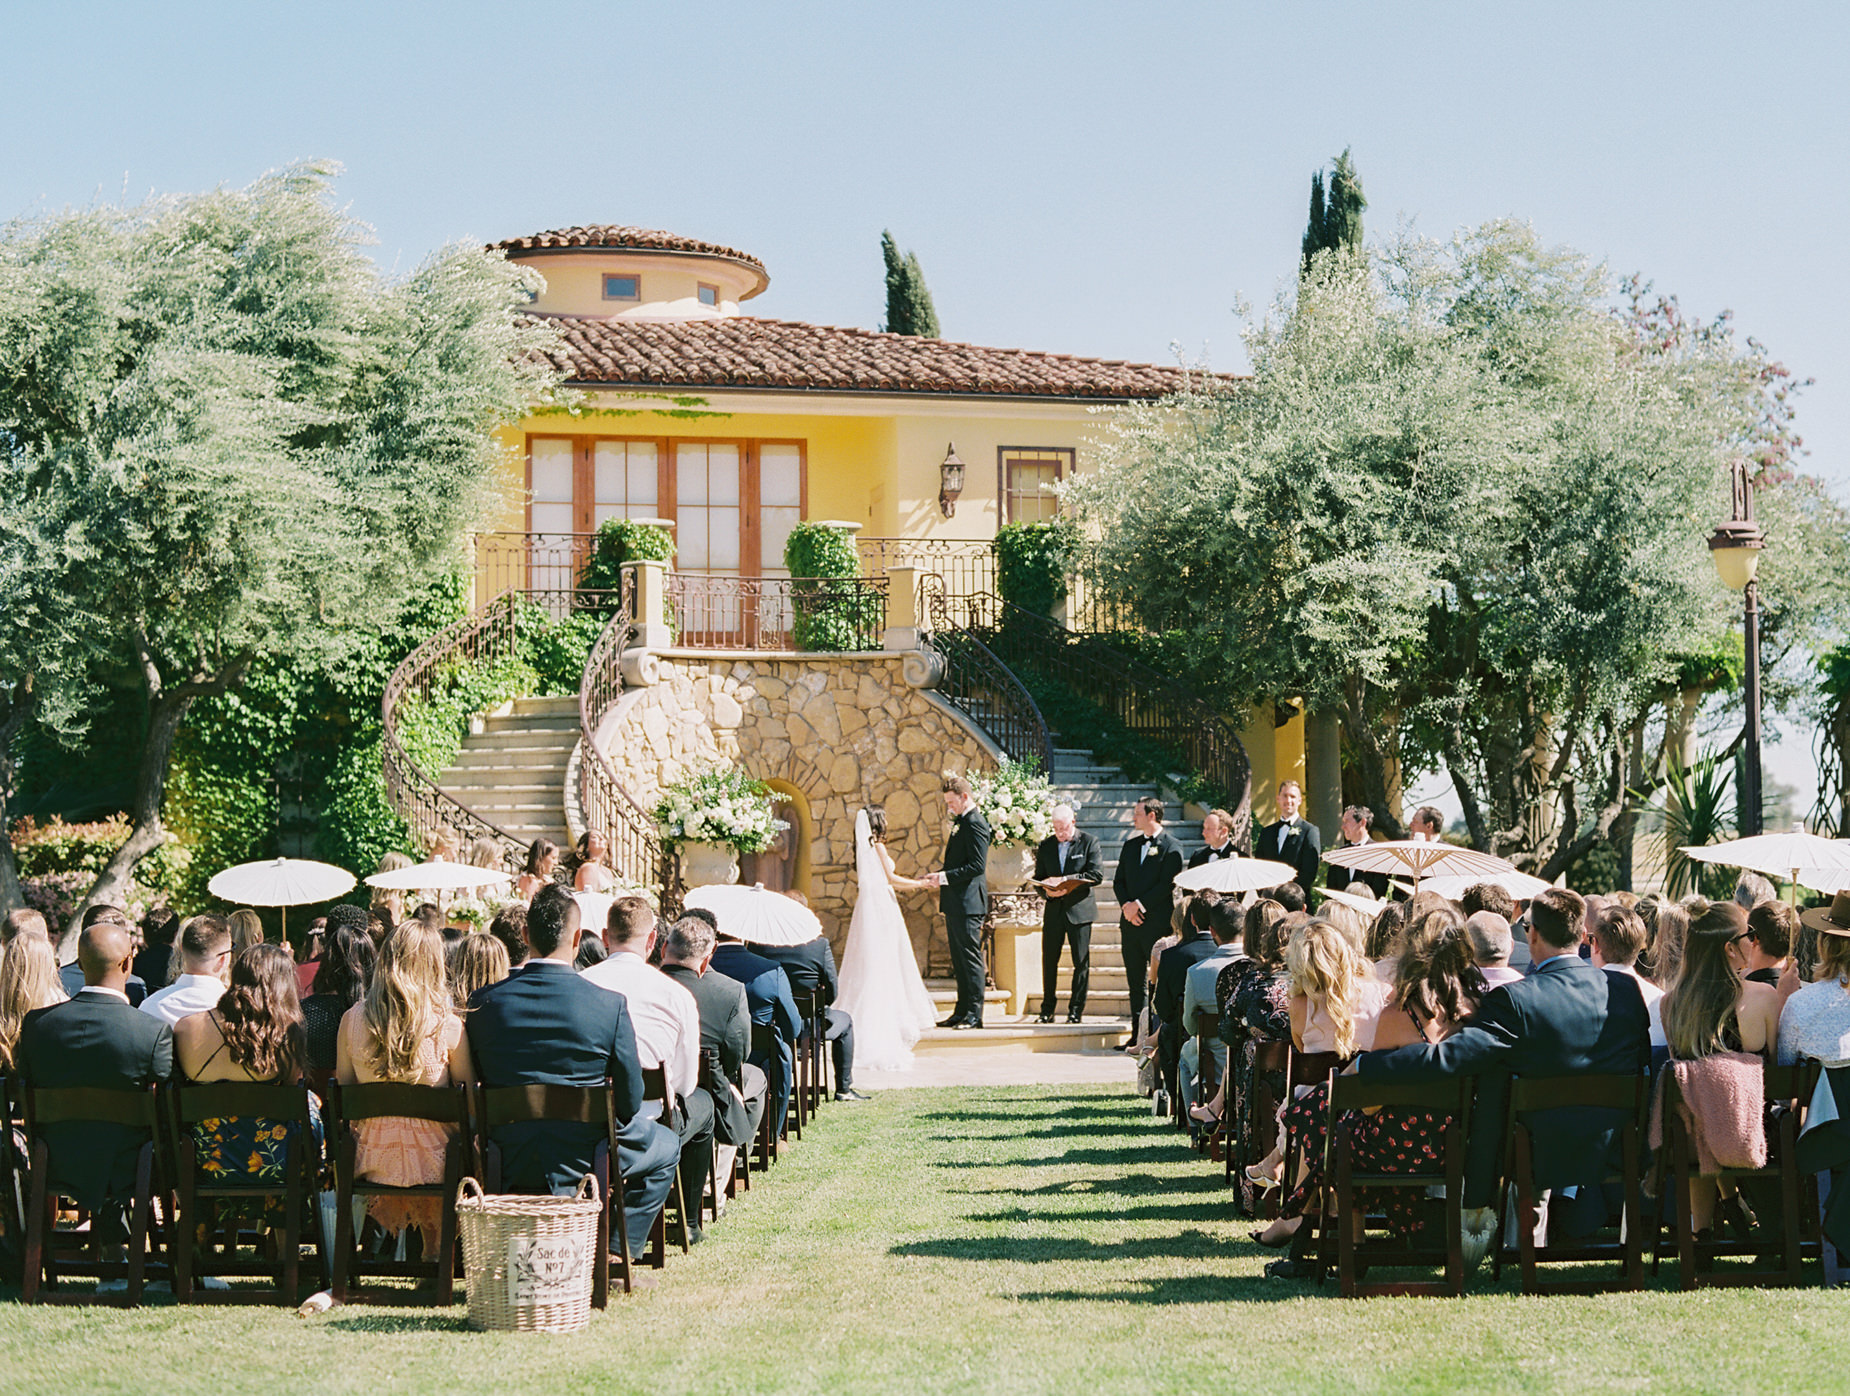
<path id="1" fill-rule="evenodd" d="M 666 577 L 683 649 L 857 651 L 886 632 L 886 577 Z"/>

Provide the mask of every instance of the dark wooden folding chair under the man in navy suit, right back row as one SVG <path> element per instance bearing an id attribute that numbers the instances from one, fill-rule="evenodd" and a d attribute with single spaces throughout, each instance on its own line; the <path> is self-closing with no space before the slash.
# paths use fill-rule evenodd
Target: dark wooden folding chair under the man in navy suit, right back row
<path id="1" fill-rule="evenodd" d="M 1645 1111 L 1650 1076 L 1630 1074 L 1513 1076 L 1510 1080 L 1510 1124 L 1506 1133 L 1502 1213 L 1515 1194 L 1515 1257 L 1523 1270 L 1524 1294 L 1610 1294 L 1641 1289 L 1645 1283 Z M 1617 1243 L 1536 1244 L 1536 1145 L 1524 1117 L 1543 1109 L 1602 1109 L 1615 1117 L 1622 1165 L 1624 1213 Z M 1552 1224 L 1552 1218 L 1550 1218 Z M 1504 1237 L 1497 1250 L 1497 1272 L 1510 1254 Z M 1539 1265 L 1558 1261 L 1615 1261 L 1617 1278 L 1541 1281 Z"/>

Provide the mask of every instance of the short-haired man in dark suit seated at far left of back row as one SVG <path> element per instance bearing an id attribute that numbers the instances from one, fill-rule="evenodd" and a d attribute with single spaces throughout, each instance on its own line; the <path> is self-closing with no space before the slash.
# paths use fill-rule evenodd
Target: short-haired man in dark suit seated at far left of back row
<path id="1" fill-rule="evenodd" d="M 83 987 L 68 1002 L 50 1002 L 26 1013 L 13 1050 L 13 1069 L 30 1087 L 105 1087 L 135 1091 L 174 1074 L 174 1030 L 128 1002 L 133 926 L 117 908 L 91 921 L 78 937 Z M 50 941 L 44 943 L 50 949 Z M 31 997 L 50 998 L 37 937 L 7 945 L 7 963 L 37 980 Z M 15 960 L 15 952 L 24 960 Z M 7 1004 L 15 1008 L 15 1004 Z M 109 1239 L 120 1237 L 122 1204 L 135 1196 L 135 1167 L 148 1132 L 94 1120 L 46 1122 L 39 1137 L 50 1148 L 50 1191 L 105 1213 Z"/>

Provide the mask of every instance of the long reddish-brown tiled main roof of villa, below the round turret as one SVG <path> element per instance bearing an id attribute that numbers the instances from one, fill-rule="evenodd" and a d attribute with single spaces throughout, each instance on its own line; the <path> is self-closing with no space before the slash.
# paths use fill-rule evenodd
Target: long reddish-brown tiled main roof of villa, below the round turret
<path id="1" fill-rule="evenodd" d="M 551 353 L 583 386 L 790 388 L 1125 401 L 1177 392 L 1180 368 L 838 329 L 796 320 L 546 316 Z"/>

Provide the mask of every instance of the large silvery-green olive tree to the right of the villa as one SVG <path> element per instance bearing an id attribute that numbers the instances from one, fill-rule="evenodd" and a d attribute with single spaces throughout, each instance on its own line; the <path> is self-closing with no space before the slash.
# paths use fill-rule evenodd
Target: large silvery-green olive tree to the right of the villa
<path id="1" fill-rule="evenodd" d="M 1445 769 L 1473 841 L 1545 876 L 1634 808 L 1652 714 L 1663 741 L 1685 656 L 1726 647 L 1704 540 L 1730 459 L 1789 425 L 1759 346 L 1654 337 L 1611 290 L 1510 222 L 1317 257 L 1251 381 L 1127 410 L 1067 496 L 1223 703 L 1339 712 L 1378 819 L 1397 771 Z"/>

